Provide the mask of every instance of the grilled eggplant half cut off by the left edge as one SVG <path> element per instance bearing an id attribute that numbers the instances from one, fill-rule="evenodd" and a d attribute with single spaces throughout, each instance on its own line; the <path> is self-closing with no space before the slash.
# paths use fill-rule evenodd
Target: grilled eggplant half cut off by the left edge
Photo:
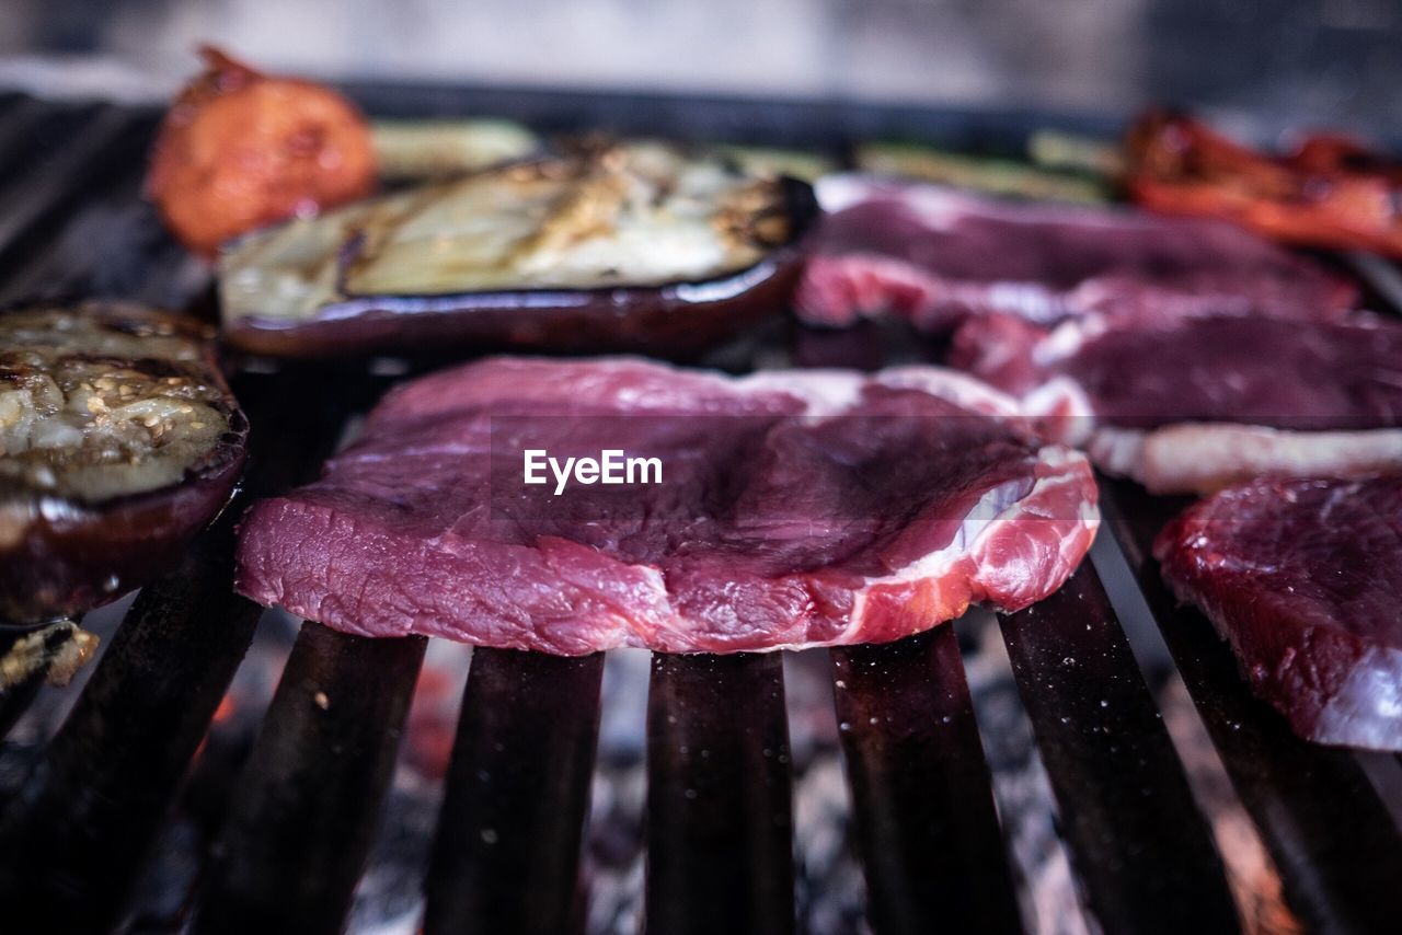
<path id="1" fill-rule="evenodd" d="M 209 336 L 136 306 L 0 313 L 0 621 L 115 600 L 227 503 L 248 423 Z"/>

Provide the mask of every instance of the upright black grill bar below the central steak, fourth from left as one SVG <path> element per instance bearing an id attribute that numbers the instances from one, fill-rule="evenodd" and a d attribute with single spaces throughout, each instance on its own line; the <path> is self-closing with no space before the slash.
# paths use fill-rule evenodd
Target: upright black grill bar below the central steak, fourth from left
<path id="1" fill-rule="evenodd" d="M 780 655 L 655 655 L 648 931 L 792 932 L 791 798 Z"/>

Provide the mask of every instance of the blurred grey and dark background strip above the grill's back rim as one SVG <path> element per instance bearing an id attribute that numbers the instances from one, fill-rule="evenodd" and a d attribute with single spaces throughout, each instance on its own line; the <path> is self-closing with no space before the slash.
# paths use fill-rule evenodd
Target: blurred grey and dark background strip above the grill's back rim
<path id="1" fill-rule="evenodd" d="M 719 91 L 1402 136 L 1398 0 L 4 0 L 0 84 L 161 97 L 199 41 L 331 79 Z M 79 56 L 74 60 L 70 56 Z"/>

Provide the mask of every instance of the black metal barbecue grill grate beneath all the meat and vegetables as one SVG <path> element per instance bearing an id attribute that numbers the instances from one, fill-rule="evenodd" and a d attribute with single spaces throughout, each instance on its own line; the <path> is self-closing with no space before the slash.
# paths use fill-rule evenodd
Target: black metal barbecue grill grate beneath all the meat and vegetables
<path id="1" fill-rule="evenodd" d="M 838 157 L 859 139 L 1004 154 L 1019 151 L 1036 128 L 1115 129 L 1087 118 L 843 104 L 349 90 L 377 115 L 491 114 L 545 132 L 604 126 Z M 119 296 L 209 313 L 207 272 L 139 202 L 157 118 L 112 105 L 0 100 L 0 299 Z M 1340 262 L 1384 293 L 1395 278 L 1387 265 Z M 892 352 L 869 329 L 813 341 L 829 363 L 837 355 L 871 364 Z M 794 348 L 794 329 L 774 327 L 709 362 L 773 366 L 792 362 Z M 896 348 L 907 359 L 925 350 Z M 4 803 L 7 931 L 105 931 L 123 918 L 262 613 L 230 590 L 237 516 L 251 499 L 314 477 L 348 419 L 397 369 L 428 366 L 240 363 L 234 390 L 254 425 L 250 475 L 184 565 L 136 597 L 72 714 Z M 1136 650 L 1161 639 L 1290 910 L 1311 931 L 1392 931 L 1402 918 L 1402 834 L 1399 803 L 1380 789 L 1402 778 L 1402 763 L 1291 735 L 1251 697 L 1210 624 L 1175 606 L 1145 558 L 1182 503 L 1123 482 L 1102 481 L 1102 491 L 1108 523 L 1095 562 L 1049 600 L 997 624 L 1087 915 L 1106 932 L 1241 927 L 1211 828 L 1136 660 Z M 1110 580 L 1126 565 L 1136 587 L 1112 601 L 1101 575 Z M 1122 627 L 1141 601 L 1154 622 L 1143 632 Z M 0 648 L 18 638 L 0 634 Z M 418 636 L 365 639 L 301 625 L 182 908 L 189 931 L 345 925 L 425 648 Z M 1022 929 L 1022 882 L 1009 869 L 956 628 L 829 656 L 871 929 Z M 603 669 L 597 655 L 472 655 L 422 879 L 425 931 L 583 927 L 580 847 Z M 7 730 L 42 676 L 41 667 L 4 692 Z M 646 931 L 795 931 L 781 656 L 656 656 L 646 704 Z"/>

